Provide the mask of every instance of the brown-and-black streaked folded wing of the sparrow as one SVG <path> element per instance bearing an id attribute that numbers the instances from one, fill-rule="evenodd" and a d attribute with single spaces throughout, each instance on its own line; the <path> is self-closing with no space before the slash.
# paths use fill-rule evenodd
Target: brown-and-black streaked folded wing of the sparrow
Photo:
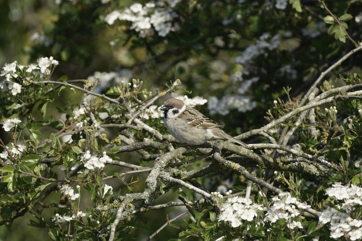
<path id="1" fill-rule="evenodd" d="M 190 127 L 208 129 L 224 126 L 224 124 L 211 120 L 210 118 L 202 115 L 201 112 L 191 107 L 186 107 L 185 111 L 178 117 L 184 119 Z"/>

